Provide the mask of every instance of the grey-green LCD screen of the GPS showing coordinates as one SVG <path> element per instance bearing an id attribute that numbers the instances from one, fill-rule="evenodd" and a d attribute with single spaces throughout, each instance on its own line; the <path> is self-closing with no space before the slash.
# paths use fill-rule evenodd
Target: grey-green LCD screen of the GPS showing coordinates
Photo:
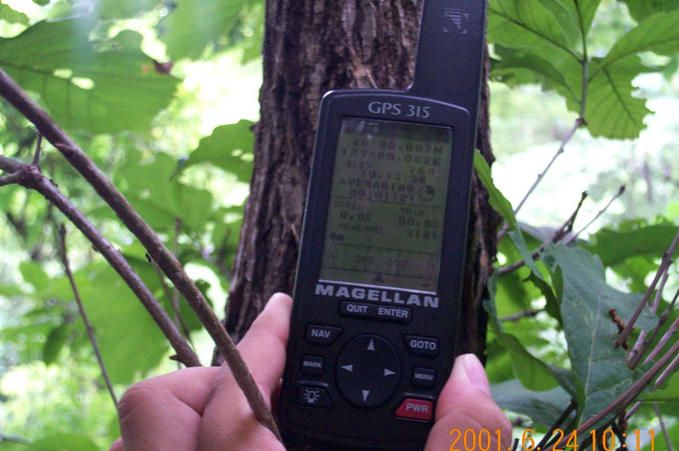
<path id="1" fill-rule="evenodd" d="M 436 291 L 453 130 L 344 118 L 320 278 Z"/>

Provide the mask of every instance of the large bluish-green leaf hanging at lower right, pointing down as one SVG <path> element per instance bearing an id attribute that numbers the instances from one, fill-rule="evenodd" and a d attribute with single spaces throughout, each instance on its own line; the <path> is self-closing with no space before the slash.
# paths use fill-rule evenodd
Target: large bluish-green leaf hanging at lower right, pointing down
<path id="1" fill-rule="evenodd" d="M 550 246 L 545 253 L 563 275 L 561 317 L 573 373 L 577 377 L 578 418 L 582 422 L 607 406 L 635 380 L 624 350 L 614 345 L 617 326 L 611 308 L 626 318 L 640 296 L 622 293 L 606 284 L 601 261 L 580 248 Z M 647 329 L 654 317 L 644 315 L 638 325 Z M 648 329 L 647 329 L 648 330 Z"/>

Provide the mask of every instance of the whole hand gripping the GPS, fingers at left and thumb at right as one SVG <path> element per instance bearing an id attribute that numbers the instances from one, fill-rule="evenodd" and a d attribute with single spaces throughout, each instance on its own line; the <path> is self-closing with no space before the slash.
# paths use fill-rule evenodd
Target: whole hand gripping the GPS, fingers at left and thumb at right
<path id="1" fill-rule="evenodd" d="M 277 399 L 291 308 L 289 296 L 274 295 L 238 344 L 267 401 Z M 285 449 L 255 419 L 226 365 L 186 368 L 139 382 L 121 398 L 119 415 L 122 438 L 111 451 Z M 439 396 L 436 423 L 425 450 L 449 449 L 454 428 L 463 433 L 472 429 L 477 436 L 485 429 L 493 439 L 494 431 L 500 429 L 503 440 L 511 437 L 509 421 L 490 397 L 483 366 L 470 354 L 455 361 Z"/>

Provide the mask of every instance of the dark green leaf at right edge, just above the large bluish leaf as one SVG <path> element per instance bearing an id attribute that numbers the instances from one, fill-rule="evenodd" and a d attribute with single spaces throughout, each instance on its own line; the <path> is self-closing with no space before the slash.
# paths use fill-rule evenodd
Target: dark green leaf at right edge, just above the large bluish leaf
<path id="1" fill-rule="evenodd" d="M 660 258 L 669 248 L 677 230 L 676 225 L 669 223 L 633 230 L 604 228 L 592 236 L 586 247 L 598 255 L 605 266 L 614 266 L 637 256 Z"/>

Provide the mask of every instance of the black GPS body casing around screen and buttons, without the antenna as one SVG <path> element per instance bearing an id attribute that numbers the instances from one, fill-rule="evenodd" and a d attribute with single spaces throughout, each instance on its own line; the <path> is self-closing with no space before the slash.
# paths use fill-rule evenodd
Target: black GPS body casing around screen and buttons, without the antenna
<path id="1" fill-rule="evenodd" d="M 386 111 L 372 112 L 378 109 L 377 105 L 383 105 L 382 109 Z M 388 105 L 399 107 L 389 108 Z M 413 105 L 415 110 L 420 107 L 420 111 L 423 110 L 422 107 L 428 107 L 428 117 L 426 119 L 407 117 L 408 112 L 413 110 L 410 105 Z M 438 125 L 453 129 L 453 144 L 452 148 L 448 149 L 451 152 L 450 176 L 436 292 L 439 298 L 438 308 L 408 306 L 412 318 L 407 324 L 342 316 L 339 314 L 339 303 L 347 301 L 347 298 L 315 293 L 316 285 L 319 283 L 335 151 L 340 121 L 343 117 Z M 316 441 L 353 446 L 358 449 L 419 449 L 424 445 L 432 423 L 399 419 L 394 412 L 408 397 L 435 402 L 448 377 L 455 355 L 473 164 L 473 152 L 467 149 L 469 114 L 459 106 L 412 97 L 407 93 L 399 95 L 394 91 L 334 91 L 326 94 L 321 102 L 318 129 L 295 281 L 287 367 L 280 400 L 281 427 L 286 438 L 292 442 L 300 441 L 298 439 L 303 437 L 302 441 L 307 443 Z M 352 286 L 348 281 L 338 281 L 338 284 Z M 366 289 L 366 285 L 356 286 Z M 401 298 L 413 292 L 384 287 L 374 288 L 387 291 L 386 298 L 392 300 L 395 291 L 405 293 Z M 425 294 L 431 295 L 431 293 L 422 295 Z M 384 301 L 360 302 L 395 305 Z M 338 327 L 341 333 L 330 345 L 309 344 L 305 342 L 305 333 L 310 324 Z M 337 355 L 349 340 L 362 334 L 374 334 L 388 340 L 396 348 L 401 361 L 401 377 L 396 394 L 385 404 L 370 409 L 348 404 L 338 392 L 336 381 Z M 440 343 L 438 356 L 433 358 L 412 355 L 404 344 L 405 335 L 435 337 Z M 300 373 L 300 362 L 304 355 L 324 357 L 326 368 L 322 376 L 310 377 Z M 434 387 L 417 388 L 411 385 L 410 373 L 417 367 L 435 369 L 437 378 Z M 332 408 L 309 408 L 298 405 L 297 389 L 300 385 L 324 387 L 330 395 Z"/>

